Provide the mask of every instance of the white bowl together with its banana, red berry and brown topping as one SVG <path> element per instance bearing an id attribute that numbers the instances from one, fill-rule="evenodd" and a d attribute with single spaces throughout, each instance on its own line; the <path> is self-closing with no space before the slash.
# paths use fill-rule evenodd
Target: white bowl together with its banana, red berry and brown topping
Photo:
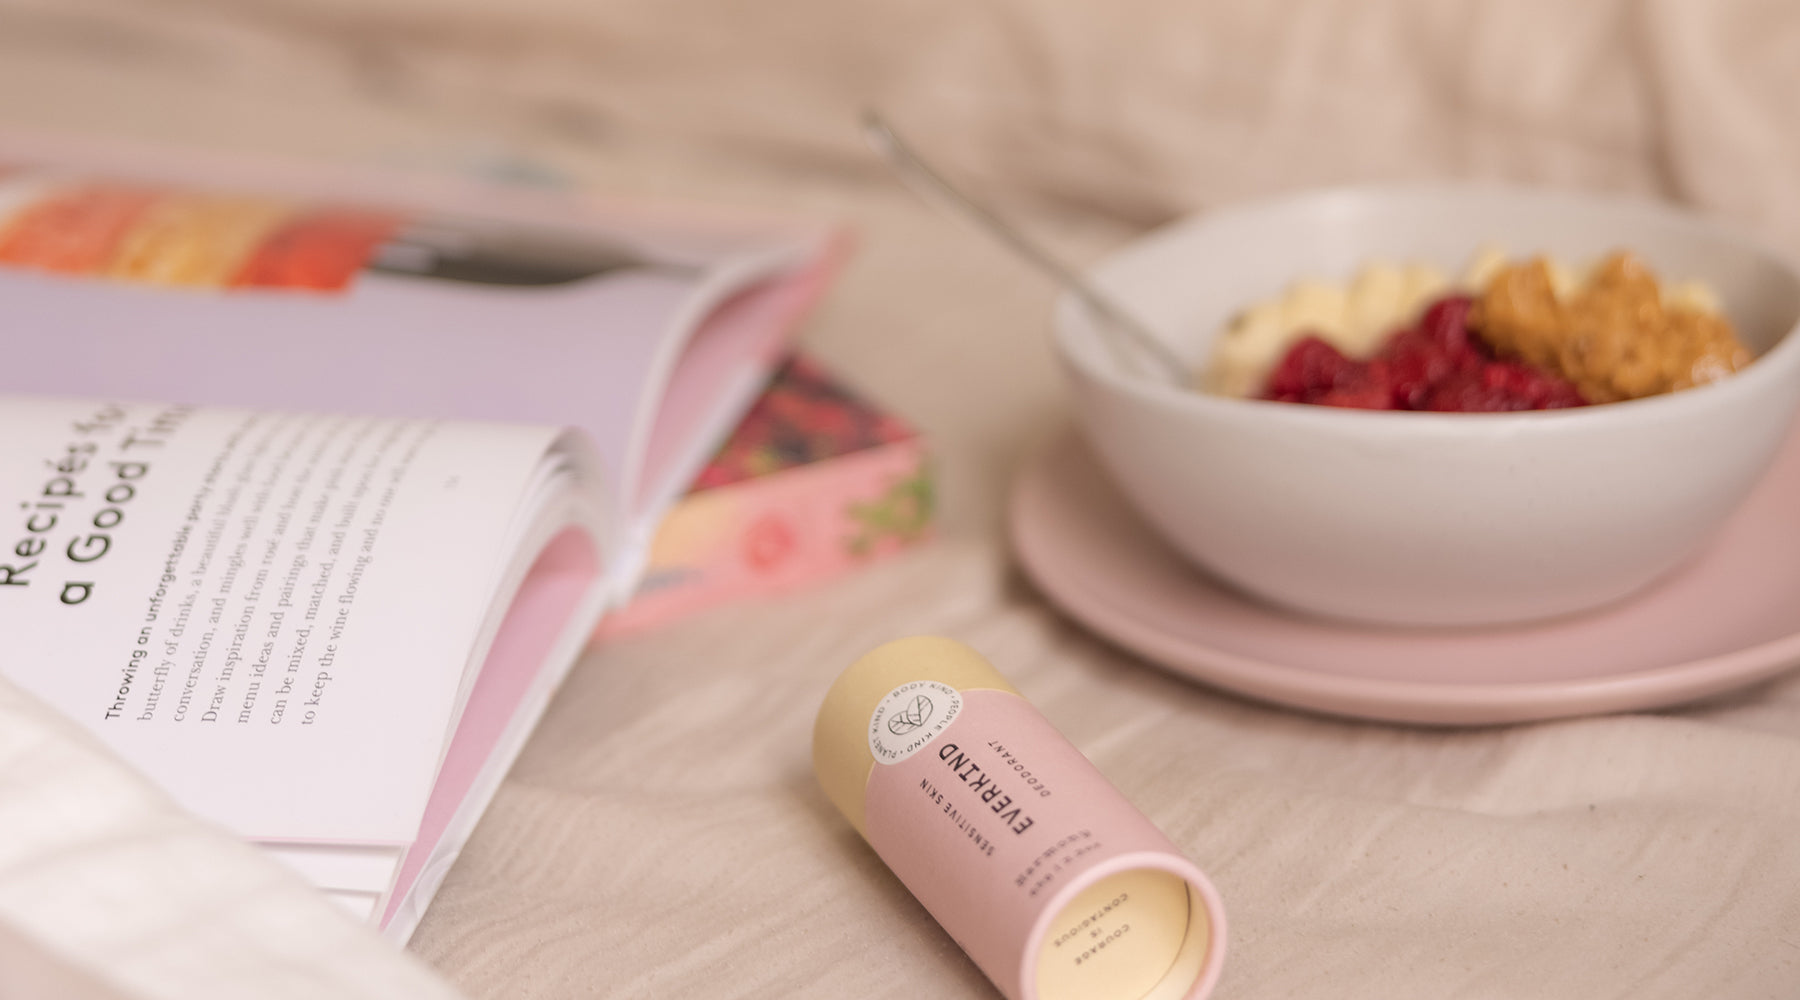
<path id="1" fill-rule="evenodd" d="M 1620 601 L 1701 549 L 1800 401 L 1800 275 L 1624 198 L 1307 194 L 1177 223 L 1093 277 L 1201 371 L 1139 378 L 1058 304 L 1111 477 L 1202 570 L 1337 619 Z"/>

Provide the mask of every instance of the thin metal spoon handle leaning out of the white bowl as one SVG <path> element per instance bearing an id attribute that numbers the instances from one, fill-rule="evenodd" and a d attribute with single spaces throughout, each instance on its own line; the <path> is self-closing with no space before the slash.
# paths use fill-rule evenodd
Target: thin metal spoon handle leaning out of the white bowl
<path id="1" fill-rule="evenodd" d="M 1109 344 L 1114 353 L 1129 358 L 1132 367 L 1141 372 L 1145 369 L 1145 362 L 1148 360 L 1148 367 L 1154 369 L 1152 374 L 1163 378 L 1170 385 L 1190 383 L 1188 365 L 1184 365 L 1161 338 L 1150 333 L 1150 327 L 1143 320 L 1120 306 L 1112 297 L 1094 288 L 1093 282 L 1082 277 L 1075 268 L 1064 264 L 1042 246 L 1026 239 L 1022 232 L 952 187 L 950 182 L 943 180 L 943 174 L 920 160 L 918 153 L 914 153 L 913 147 L 907 146 L 907 142 L 902 140 L 877 112 L 862 113 L 862 135 L 868 138 L 869 146 L 873 146 L 875 151 L 895 167 L 900 180 L 907 182 L 907 185 L 925 196 L 925 200 L 950 207 L 956 214 L 976 223 L 977 228 L 994 239 L 999 239 L 1028 264 L 1049 275 L 1049 279 L 1055 281 L 1064 291 L 1080 299 L 1082 304 L 1087 306 L 1089 311 L 1093 311 L 1100 320 L 1100 327 L 1109 335 Z M 1123 342 L 1120 336 L 1123 336 Z M 1127 349 L 1120 351 L 1121 345 Z"/>

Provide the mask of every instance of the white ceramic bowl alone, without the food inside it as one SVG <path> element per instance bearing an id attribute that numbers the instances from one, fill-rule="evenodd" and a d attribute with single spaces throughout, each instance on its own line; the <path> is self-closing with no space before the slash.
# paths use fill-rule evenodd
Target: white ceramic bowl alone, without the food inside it
<path id="1" fill-rule="evenodd" d="M 1676 209 L 1496 187 L 1355 189 L 1220 209 L 1094 270 L 1195 365 L 1247 302 L 1381 257 L 1640 254 L 1699 279 L 1759 354 L 1714 385 L 1577 410 L 1364 412 L 1157 385 L 1075 300 L 1057 347 L 1080 426 L 1148 523 L 1219 577 L 1361 622 L 1469 626 L 1618 601 L 1692 556 L 1762 477 L 1800 401 L 1800 273 Z M 1796 513 L 1800 516 L 1800 513 Z"/>

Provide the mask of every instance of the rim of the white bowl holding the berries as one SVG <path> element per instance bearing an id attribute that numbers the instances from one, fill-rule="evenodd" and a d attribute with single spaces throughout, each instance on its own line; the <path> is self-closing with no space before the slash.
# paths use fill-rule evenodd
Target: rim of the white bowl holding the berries
<path id="1" fill-rule="evenodd" d="M 1660 218 L 1663 221 L 1672 221 L 1681 227 L 1692 227 L 1703 234 L 1715 239 L 1733 243 L 1746 252 L 1764 257 L 1769 264 L 1786 273 L 1786 277 L 1800 290 L 1800 263 L 1789 252 L 1746 232 L 1744 228 L 1732 225 L 1714 214 L 1697 210 L 1685 205 L 1676 205 L 1670 201 L 1661 201 L 1656 198 L 1645 198 L 1636 194 L 1622 192 L 1593 192 L 1580 189 L 1564 187 L 1539 187 L 1523 183 L 1505 183 L 1505 182 L 1399 182 L 1399 183 L 1368 183 L 1368 185 L 1332 185 L 1289 191 L 1283 194 L 1274 194 L 1269 198 L 1255 198 L 1246 201 L 1235 201 L 1222 205 L 1219 209 L 1202 209 L 1190 212 L 1186 216 L 1170 219 L 1168 223 L 1156 227 L 1136 239 L 1130 239 L 1123 246 L 1118 246 L 1094 264 L 1084 268 L 1084 277 L 1107 288 L 1111 284 L 1109 275 L 1121 270 L 1129 270 L 1139 259 L 1156 255 L 1161 246 L 1175 237 L 1186 236 L 1192 230 L 1204 228 L 1210 225 L 1220 225 L 1233 219 L 1255 218 L 1262 214 L 1287 212 L 1314 205 L 1321 216 L 1328 214 L 1332 205 L 1368 200 L 1418 200 L 1418 198 L 1467 198 L 1467 196 L 1485 196 L 1485 198 L 1521 198 L 1535 201 L 1564 201 L 1580 203 L 1584 207 L 1604 207 L 1620 212 L 1640 212 Z M 1145 403 L 1152 403 L 1165 408 L 1186 410 L 1192 414 L 1211 415 L 1219 419 L 1273 419 L 1283 421 L 1296 426 L 1318 426 L 1321 421 L 1336 428 L 1417 428 L 1422 433 L 1458 433 L 1458 432 L 1480 432 L 1505 433 L 1505 432 L 1526 432 L 1526 430 L 1548 430 L 1557 428 L 1598 428 L 1606 424 L 1615 424 L 1620 421 L 1642 421 L 1642 419 L 1679 419 L 1687 410 L 1706 406 L 1721 397 L 1721 394 L 1744 394 L 1751 387 L 1760 387 L 1762 383 L 1793 378 L 1793 369 L 1800 369 L 1800 313 L 1796 313 L 1787 327 L 1780 333 L 1777 342 L 1757 354 L 1757 358 L 1744 369 L 1733 372 L 1730 378 L 1723 378 L 1714 383 L 1697 385 L 1692 388 L 1683 388 L 1676 392 L 1661 392 L 1656 396 L 1642 396 L 1638 399 L 1624 399 L 1616 403 L 1595 403 L 1588 406 L 1570 406 L 1559 410 L 1514 410 L 1498 414 L 1435 414 L 1420 410 L 1357 410 L 1348 406 L 1307 406 L 1296 403 L 1280 403 L 1273 399 L 1255 399 L 1238 396 L 1217 396 L 1193 387 L 1177 387 L 1165 381 L 1154 379 L 1150 376 L 1132 376 L 1120 371 L 1118 365 L 1096 365 L 1093 356 L 1082 347 L 1075 345 L 1071 338 L 1089 336 L 1091 340 L 1100 340 L 1098 331 L 1093 327 L 1098 320 L 1091 315 L 1085 304 L 1073 291 L 1060 291 L 1055 299 L 1051 311 L 1051 340 L 1055 344 L 1057 354 L 1062 363 L 1080 372 L 1085 379 L 1096 381 L 1114 394 L 1125 394 L 1138 397 Z M 1085 327 L 1085 329 L 1084 329 Z M 1157 331 L 1159 333 L 1159 331 Z M 1165 338 L 1166 342 L 1166 338 Z M 1098 354 L 1102 351 L 1094 351 Z M 1771 363 L 1773 362 L 1773 363 Z M 1737 388 L 1733 388 L 1737 387 Z"/>

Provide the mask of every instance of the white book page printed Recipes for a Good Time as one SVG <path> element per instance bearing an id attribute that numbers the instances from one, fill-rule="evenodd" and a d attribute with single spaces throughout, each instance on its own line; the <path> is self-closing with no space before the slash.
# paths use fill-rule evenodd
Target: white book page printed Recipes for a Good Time
<path id="1" fill-rule="evenodd" d="M 407 844 L 549 428 L 0 397 L 0 660 L 245 836 Z"/>

